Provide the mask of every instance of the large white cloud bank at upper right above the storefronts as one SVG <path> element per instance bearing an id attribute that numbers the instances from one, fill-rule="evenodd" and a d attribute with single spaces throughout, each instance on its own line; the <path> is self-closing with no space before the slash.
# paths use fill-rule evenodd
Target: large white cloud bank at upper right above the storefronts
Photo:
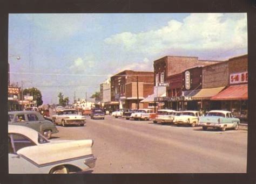
<path id="1" fill-rule="evenodd" d="M 191 13 L 147 32 L 123 32 L 104 41 L 125 52 L 154 55 L 171 49 L 210 51 L 247 48 L 246 13 Z"/>

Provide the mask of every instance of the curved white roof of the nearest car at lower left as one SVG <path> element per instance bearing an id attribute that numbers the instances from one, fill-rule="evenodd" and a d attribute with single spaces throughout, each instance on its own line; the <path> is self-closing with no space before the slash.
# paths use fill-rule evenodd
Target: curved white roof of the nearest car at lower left
<path id="1" fill-rule="evenodd" d="M 38 144 L 38 132 L 26 126 L 8 125 L 8 133 L 18 133 L 24 135 L 30 138 L 36 144 Z"/>

